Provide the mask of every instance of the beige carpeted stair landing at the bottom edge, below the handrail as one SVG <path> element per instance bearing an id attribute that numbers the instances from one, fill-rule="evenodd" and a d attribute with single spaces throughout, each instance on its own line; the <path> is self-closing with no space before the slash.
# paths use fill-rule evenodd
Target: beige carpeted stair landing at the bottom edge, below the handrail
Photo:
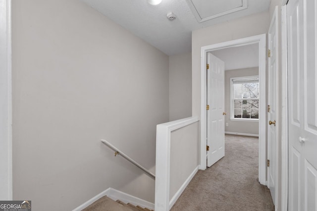
<path id="1" fill-rule="evenodd" d="M 89 205 L 82 211 L 134 211 L 130 207 L 113 201 L 112 199 L 104 196 L 98 199 L 93 204 Z"/>

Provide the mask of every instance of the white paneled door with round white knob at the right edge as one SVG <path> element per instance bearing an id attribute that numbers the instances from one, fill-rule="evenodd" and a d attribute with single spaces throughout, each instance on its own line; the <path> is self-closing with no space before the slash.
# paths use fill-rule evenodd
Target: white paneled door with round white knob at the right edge
<path id="1" fill-rule="evenodd" d="M 288 209 L 317 210 L 317 2 L 287 3 Z"/>

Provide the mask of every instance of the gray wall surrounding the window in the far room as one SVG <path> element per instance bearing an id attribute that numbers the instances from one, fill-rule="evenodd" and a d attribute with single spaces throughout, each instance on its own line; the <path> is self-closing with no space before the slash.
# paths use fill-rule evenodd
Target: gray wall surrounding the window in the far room
<path id="1" fill-rule="evenodd" d="M 226 132 L 237 132 L 237 133 L 248 133 L 248 134 L 259 134 L 259 122 L 245 122 L 245 121 L 231 121 L 230 120 L 230 78 L 242 77 L 242 76 L 256 76 L 259 75 L 259 68 L 247 68 L 239 70 L 226 70 L 224 71 L 224 104 L 225 111 L 225 126 Z"/>

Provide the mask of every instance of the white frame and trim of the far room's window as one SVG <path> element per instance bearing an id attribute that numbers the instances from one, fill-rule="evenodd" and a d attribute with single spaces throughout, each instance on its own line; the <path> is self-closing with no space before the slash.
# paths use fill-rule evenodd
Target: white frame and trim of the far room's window
<path id="1" fill-rule="evenodd" d="M 233 99 L 233 80 L 252 80 L 252 79 L 258 79 L 259 80 L 259 75 L 255 76 L 241 76 L 241 77 L 232 77 L 230 78 L 230 120 L 231 121 L 241 121 L 241 122 L 259 122 L 259 119 L 251 119 L 251 118 L 235 118 L 234 117 L 234 99 Z M 259 86 L 260 86 L 260 80 L 259 80 Z M 252 98 L 246 98 L 246 99 L 252 99 Z M 260 94 L 258 98 L 253 98 L 253 99 L 258 99 L 260 102 Z M 259 108 L 260 110 L 260 108 Z"/>

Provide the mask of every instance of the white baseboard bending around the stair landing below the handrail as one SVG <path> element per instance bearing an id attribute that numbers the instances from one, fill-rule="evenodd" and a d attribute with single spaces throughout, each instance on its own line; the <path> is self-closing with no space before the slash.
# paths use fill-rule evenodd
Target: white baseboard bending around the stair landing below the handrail
<path id="1" fill-rule="evenodd" d="M 84 204 L 80 205 L 79 207 L 75 208 L 73 211 L 81 211 L 85 208 L 87 208 L 89 205 L 93 204 L 95 201 L 97 201 L 98 199 L 107 196 L 112 200 L 120 200 L 124 203 L 131 203 L 134 206 L 140 206 L 142 208 L 148 208 L 150 210 L 154 210 L 154 204 L 148 201 L 145 201 L 143 199 L 140 199 L 138 197 L 132 196 L 130 194 L 127 193 L 123 193 L 121 191 L 118 191 L 116 189 L 113 188 L 108 188 L 105 191 L 101 192 L 100 194 L 94 196 L 93 198 L 91 198 L 90 200 L 88 200 L 87 202 L 85 202 Z"/>

